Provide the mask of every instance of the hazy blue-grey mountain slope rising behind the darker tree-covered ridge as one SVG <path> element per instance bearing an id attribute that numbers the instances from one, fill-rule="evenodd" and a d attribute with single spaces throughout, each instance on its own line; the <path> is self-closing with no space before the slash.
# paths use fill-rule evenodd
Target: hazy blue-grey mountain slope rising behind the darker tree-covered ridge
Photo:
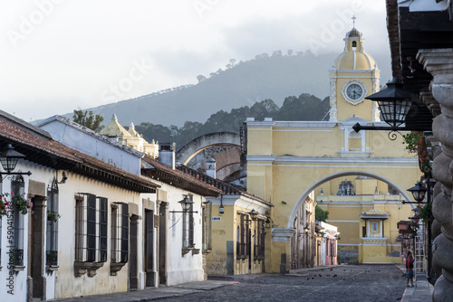
<path id="1" fill-rule="evenodd" d="M 288 51 L 282 54 L 277 51 L 271 55 L 257 55 L 250 61 L 232 59 L 225 70 L 198 75 L 196 85 L 83 110 L 101 115 L 104 124 L 114 113 L 121 124 L 129 125 L 132 121 L 135 125 L 147 122 L 182 127 L 186 121 L 202 123 L 212 112 L 219 110 L 251 108 L 263 99 L 273 99 L 279 107 L 285 97 L 301 93 L 323 99 L 329 95 L 329 69 L 335 56 L 333 53 L 314 56 L 311 52 Z M 221 116 L 223 113 L 217 114 Z M 72 113 L 65 116 L 72 118 Z"/>

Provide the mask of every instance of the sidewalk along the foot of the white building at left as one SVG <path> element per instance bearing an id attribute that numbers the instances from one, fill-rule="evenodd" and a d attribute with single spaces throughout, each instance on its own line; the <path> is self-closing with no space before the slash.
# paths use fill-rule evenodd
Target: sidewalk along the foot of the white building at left
<path id="1" fill-rule="evenodd" d="M 127 291 L 122 293 L 95 295 L 87 297 L 68 297 L 63 299 L 55 299 L 50 301 L 55 302 L 147 302 L 152 300 L 161 299 L 164 297 L 179 297 L 189 294 L 202 292 L 205 290 L 211 290 L 214 288 L 222 288 L 229 285 L 236 284 L 237 281 L 218 281 L 218 280 L 206 280 L 198 282 L 190 282 L 184 284 L 178 284 L 172 287 L 161 287 L 161 288 L 146 288 L 143 290 Z"/>

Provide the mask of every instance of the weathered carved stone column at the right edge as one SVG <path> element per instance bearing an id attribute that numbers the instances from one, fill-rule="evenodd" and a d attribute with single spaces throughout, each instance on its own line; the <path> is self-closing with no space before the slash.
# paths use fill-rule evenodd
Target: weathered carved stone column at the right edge
<path id="1" fill-rule="evenodd" d="M 439 102 L 441 114 L 432 124 L 441 152 L 434 159 L 433 175 L 440 183 L 435 190 L 432 212 L 441 233 L 433 241 L 433 266 L 442 269 L 434 287 L 433 301 L 451 301 L 453 297 L 453 49 L 419 50 L 417 60 L 432 74 L 430 90 Z"/>

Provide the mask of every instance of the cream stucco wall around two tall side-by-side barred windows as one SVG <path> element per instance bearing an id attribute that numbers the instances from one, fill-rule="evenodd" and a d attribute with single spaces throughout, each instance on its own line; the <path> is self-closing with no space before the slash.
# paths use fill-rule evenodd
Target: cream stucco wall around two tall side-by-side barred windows
<path id="1" fill-rule="evenodd" d="M 74 277 L 75 259 L 75 199 L 76 193 L 92 193 L 108 199 L 107 262 L 97 269 L 96 276 Z M 126 264 L 117 276 L 111 276 L 111 203 L 136 203 L 140 207 L 140 193 L 121 189 L 111 184 L 68 174 L 66 184 L 60 185 L 60 232 L 58 234 L 60 268 L 57 272 L 55 297 L 80 297 L 128 290 L 129 269 Z M 139 249 L 140 250 L 140 249 Z"/>

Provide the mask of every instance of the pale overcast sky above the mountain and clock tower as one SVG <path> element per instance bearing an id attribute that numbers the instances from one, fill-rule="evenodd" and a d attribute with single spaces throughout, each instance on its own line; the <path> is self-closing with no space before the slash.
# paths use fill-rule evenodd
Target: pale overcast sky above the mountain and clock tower
<path id="1" fill-rule="evenodd" d="M 351 14 L 389 71 L 384 0 L 2 1 L 1 109 L 31 121 L 196 84 L 230 59 L 340 53 Z"/>

